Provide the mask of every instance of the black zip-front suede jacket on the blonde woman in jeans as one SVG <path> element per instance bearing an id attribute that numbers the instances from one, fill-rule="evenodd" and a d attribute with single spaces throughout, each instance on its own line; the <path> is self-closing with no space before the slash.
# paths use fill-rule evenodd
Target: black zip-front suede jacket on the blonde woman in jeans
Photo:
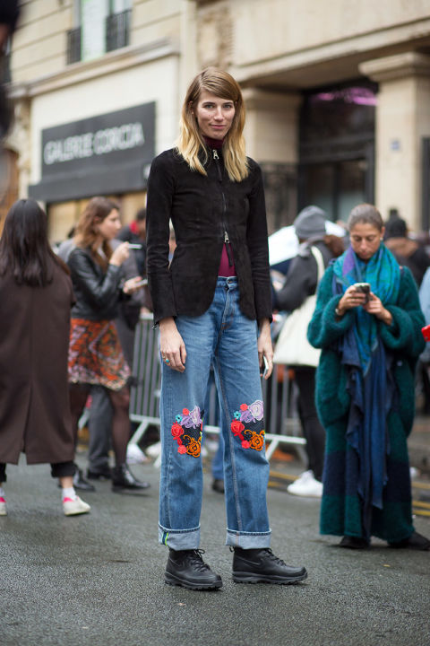
<path id="1" fill-rule="evenodd" d="M 223 244 L 233 249 L 240 309 L 248 319 L 271 319 L 262 171 L 249 159 L 248 177 L 230 181 L 222 153 L 209 153 L 207 176 L 191 170 L 174 150 L 161 153 L 150 167 L 147 269 L 156 323 L 208 310 Z M 176 233 L 170 266 L 169 218 Z"/>

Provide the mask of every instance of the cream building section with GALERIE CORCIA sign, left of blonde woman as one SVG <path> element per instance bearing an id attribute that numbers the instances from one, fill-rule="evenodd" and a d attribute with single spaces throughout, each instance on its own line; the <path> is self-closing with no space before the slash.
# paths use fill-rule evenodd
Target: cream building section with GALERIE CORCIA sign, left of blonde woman
<path id="1" fill-rule="evenodd" d="M 180 0 L 30 0 L 13 37 L 11 96 L 19 194 L 47 206 L 63 240 L 90 196 L 125 222 L 145 204 L 154 155 L 176 137 L 184 40 Z"/>

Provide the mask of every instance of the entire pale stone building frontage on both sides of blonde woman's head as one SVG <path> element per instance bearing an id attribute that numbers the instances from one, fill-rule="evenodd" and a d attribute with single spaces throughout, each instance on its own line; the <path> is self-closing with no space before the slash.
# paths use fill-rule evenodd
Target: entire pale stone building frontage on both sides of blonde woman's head
<path id="1" fill-rule="evenodd" d="M 207 65 L 244 90 L 270 231 L 306 204 L 336 221 L 362 201 L 428 230 L 429 0 L 27 0 L 7 147 L 53 240 L 95 193 L 133 218 Z"/>

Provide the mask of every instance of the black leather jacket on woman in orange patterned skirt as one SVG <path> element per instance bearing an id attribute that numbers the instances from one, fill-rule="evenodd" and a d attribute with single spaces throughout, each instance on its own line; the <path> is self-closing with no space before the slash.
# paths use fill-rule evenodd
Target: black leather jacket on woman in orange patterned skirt
<path id="1" fill-rule="evenodd" d="M 104 272 L 92 258 L 90 249 L 80 247 L 73 249 L 67 265 L 76 298 L 72 308 L 73 319 L 116 319 L 123 293 L 120 289 L 123 281 L 121 267 L 108 265 Z"/>

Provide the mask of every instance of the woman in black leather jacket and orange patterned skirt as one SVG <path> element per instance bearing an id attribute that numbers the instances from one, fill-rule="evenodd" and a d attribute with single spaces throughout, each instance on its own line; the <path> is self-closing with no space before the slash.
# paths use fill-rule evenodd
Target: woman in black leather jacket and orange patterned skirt
<path id="1" fill-rule="evenodd" d="M 129 256 L 128 242 L 112 249 L 110 242 L 121 228 L 118 205 L 107 197 L 92 197 L 76 226 L 75 247 L 67 264 L 76 303 L 72 310 L 69 381 L 73 428 L 78 422 L 91 386 L 106 389 L 112 404 L 112 447 L 116 467 L 112 488 L 146 489 L 126 465 L 130 438 L 128 416 L 130 368 L 125 361 L 114 319 L 120 301 L 139 289 L 141 276 L 124 281 L 122 266 Z"/>

